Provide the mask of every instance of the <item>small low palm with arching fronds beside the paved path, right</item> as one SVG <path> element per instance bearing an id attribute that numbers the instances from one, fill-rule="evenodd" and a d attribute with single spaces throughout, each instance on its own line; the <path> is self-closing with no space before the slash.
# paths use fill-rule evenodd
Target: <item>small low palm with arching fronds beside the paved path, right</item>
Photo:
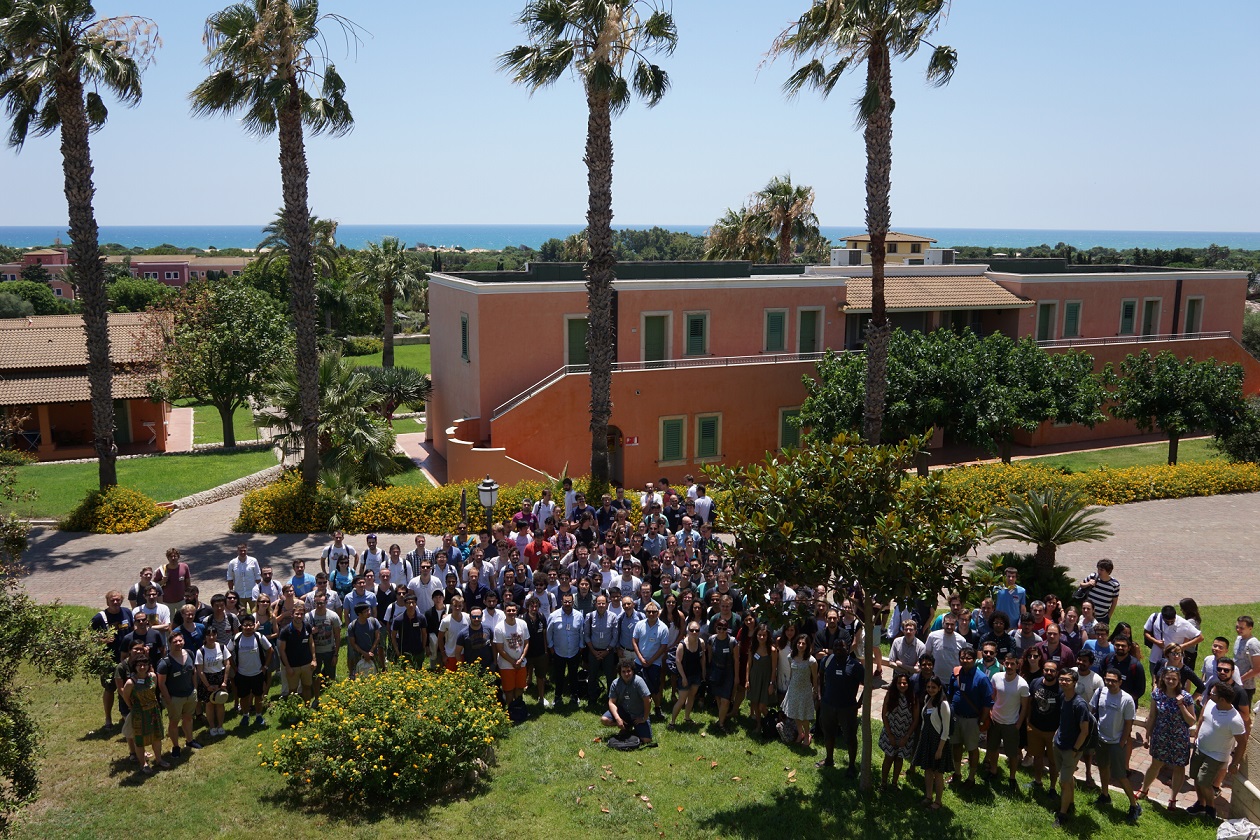
<path id="1" fill-rule="evenodd" d="M 1060 545 L 1096 543 L 1111 536 L 1106 521 L 1080 492 L 1051 487 L 1011 494 L 994 521 L 994 539 L 1013 539 L 1037 547 L 1037 567 L 1051 570 Z"/>

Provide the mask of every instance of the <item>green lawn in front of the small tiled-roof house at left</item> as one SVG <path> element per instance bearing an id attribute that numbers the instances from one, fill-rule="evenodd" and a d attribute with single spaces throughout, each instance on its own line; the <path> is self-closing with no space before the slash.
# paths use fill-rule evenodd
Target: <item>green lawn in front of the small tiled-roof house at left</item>
<path id="1" fill-rule="evenodd" d="M 155 501 L 173 501 L 276 465 L 271 450 L 207 452 L 118 461 L 118 484 Z M 37 490 L 33 502 L 6 502 L 5 510 L 24 516 L 64 516 L 88 490 L 97 487 L 97 465 L 49 463 L 18 468 L 18 490 Z"/>

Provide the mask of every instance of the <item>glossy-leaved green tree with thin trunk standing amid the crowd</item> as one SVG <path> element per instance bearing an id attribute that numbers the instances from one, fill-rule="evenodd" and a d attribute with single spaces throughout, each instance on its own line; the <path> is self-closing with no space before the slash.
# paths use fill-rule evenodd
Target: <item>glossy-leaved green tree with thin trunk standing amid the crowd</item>
<path id="1" fill-rule="evenodd" d="M 712 485 L 730 494 L 722 526 L 735 536 L 731 550 L 740 584 L 753 604 L 774 612 L 771 604 L 760 603 L 766 599 L 767 581 L 823 584 L 828 591 L 858 583 L 864 601 L 864 661 L 871 662 L 876 604 L 934 598 L 942 588 L 961 586 L 961 555 L 980 539 L 980 514 L 954 509 L 939 476 L 907 476 L 906 467 L 925 445 L 926 438 L 915 437 L 868 446 L 856 434 L 842 434 L 764 463 L 712 470 Z M 770 621 L 784 618 L 771 616 Z M 863 788 L 871 787 L 874 679 L 868 669 Z"/>

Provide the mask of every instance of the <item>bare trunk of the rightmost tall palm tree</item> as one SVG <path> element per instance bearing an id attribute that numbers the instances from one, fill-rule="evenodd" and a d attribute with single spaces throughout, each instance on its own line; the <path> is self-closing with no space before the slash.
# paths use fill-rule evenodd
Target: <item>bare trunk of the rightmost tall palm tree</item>
<path id="1" fill-rule="evenodd" d="M 867 379 L 862 436 L 879 443 L 883 432 L 883 402 L 888 389 L 888 315 L 883 302 L 883 264 L 892 223 L 888 194 L 892 189 L 892 67 L 883 38 L 872 39 L 867 57 L 867 91 L 878 94 L 868 115 L 863 139 L 867 152 L 867 233 L 871 234 L 871 321 L 866 329 Z"/>

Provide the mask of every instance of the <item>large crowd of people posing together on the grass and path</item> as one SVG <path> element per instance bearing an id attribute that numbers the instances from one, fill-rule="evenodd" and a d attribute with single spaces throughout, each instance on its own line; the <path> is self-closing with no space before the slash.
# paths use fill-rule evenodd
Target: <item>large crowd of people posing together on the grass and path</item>
<path id="1" fill-rule="evenodd" d="M 194 725 L 203 720 L 204 739 L 226 734 L 232 714 L 237 727 L 266 725 L 275 681 L 281 695 L 318 707 L 344 647 L 345 679 L 475 662 L 496 675 L 513 720 L 530 714 L 527 698 L 538 714 L 585 704 L 614 737 L 653 747 L 662 724 L 697 727 L 696 710 L 709 709 L 719 734 L 745 720 L 806 749 L 816 738 L 819 767 L 834 766 L 839 743 L 849 775 L 869 667 L 886 686 L 873 704 L 882 783 L 898 785 L 908 766 L 907 776 L 922 775 L 929 809 L 941 807 L 946 778 L 1000 783 L 1004 758 L 1012 791 L 1022 790 L 1021 767 L 1036 788 L 1057 787 L 1058 824 L 1075 810 L 1081 764 L 1087 785 L 1097 771 L 1096 803 L 1110 806 L 1119 787 L 1130 820 L 1162 767 L 1172 775 L 1169 809 L 1188 772 L 1186 810 L 1215 817 L 1216 793 L 1242 761 L 1260 675 L 1250 616 L 1239 617 L 1234 640 L 1211 641 L 1198 670 L 1206 640 L 1192 599 L 1134 631 L 1114 620 L 1120 584 L 1110 560 L 1072 603 L 1029 599 L 1007 568 L 978 604 L 956 594 L 941 615 L 936 603 L 874 604 L 868 660 L 858 583 L 775 581 L 750 598 L 732 583 L 703 485 L 662 479 L 636 501 L 619 489 L 593 506 L 566 481 L 562 497 L 544 491 L 510 520 L 479 534 L 460 525 L 433 548 L 417 535 L 403 553 L 368 534 L 359 552 L 336 531 L 316 574 L 294 559 L 280 579 L 242 543 L 209 603 L 170 549 L 165 565 L 141 569 L 126 596 L 111 591 L 93 618 L 116 662 L 101 676 L 105 727 L 115 728 L 117 705 L 132 757 L 151 773 L 169 766 L 166 756 L 202 748 Z M 772 618 L 782 606 L 798 620 Z M 1150 769 L 1134 783 L 1148 670 Z"/>

